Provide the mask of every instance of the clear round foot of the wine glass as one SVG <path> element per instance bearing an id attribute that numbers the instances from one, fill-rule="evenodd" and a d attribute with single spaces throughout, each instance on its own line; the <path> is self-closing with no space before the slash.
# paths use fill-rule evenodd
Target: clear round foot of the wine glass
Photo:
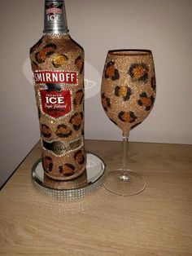
<path id="1" fill-rule="evenodd" d="M 122 170 L 113 170 L 107 174 L 103 186 L 116 195 L 133 196 L 146 188 L 146 180 L 133 170 L 128 170 L 128 177 L 122 174 Z"/>

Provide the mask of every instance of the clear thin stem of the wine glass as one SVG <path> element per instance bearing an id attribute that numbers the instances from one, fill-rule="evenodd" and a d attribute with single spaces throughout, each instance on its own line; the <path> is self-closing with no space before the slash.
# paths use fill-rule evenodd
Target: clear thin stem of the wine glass
<path id="1" fill-rule="evenodd" d="M 128 141 L 129 136 L 123 136 L 123 156 L 122 156 L 122 174 L 120 175 L 121 181 L 128 181 Z"/>

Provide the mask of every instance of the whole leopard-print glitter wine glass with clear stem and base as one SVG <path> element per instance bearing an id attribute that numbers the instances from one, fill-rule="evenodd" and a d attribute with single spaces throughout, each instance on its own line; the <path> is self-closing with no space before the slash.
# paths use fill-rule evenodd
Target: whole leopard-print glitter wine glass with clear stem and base
<path id="1" fill-rule="evenodd" d="M 155 102 L 155 67 L 149 50 L 108 51 L 101 86 L 107 117 L 123 132 L 122 167 L 107 174 L 104 187 L 121 196 L 146 188 L 142 174 L 128 169 L 129 132 L 149 115 Z"/>

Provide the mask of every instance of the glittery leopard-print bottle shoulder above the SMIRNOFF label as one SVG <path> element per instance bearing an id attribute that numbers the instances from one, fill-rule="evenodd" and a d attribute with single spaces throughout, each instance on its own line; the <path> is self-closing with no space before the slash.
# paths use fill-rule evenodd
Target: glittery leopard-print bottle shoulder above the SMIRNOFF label
<path id="1" fill-rule="evenodd" d="M 83 73 L 84 50 L 69 35 L 44 35 L 31 48 L 30 59 L 33 70 L 63 68 Z"/>

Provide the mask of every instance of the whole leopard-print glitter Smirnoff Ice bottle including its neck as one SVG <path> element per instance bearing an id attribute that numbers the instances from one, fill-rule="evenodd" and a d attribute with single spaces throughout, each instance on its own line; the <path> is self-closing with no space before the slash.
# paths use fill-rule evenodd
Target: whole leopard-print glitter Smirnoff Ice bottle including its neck
<path id="1" fill-rule="evenodd" d="M 70 38 L 64 0 L 45 1 L 42 38 L 30 49 L 44 173 L 69 180 L 85 170 L 84 51 Z"/>

